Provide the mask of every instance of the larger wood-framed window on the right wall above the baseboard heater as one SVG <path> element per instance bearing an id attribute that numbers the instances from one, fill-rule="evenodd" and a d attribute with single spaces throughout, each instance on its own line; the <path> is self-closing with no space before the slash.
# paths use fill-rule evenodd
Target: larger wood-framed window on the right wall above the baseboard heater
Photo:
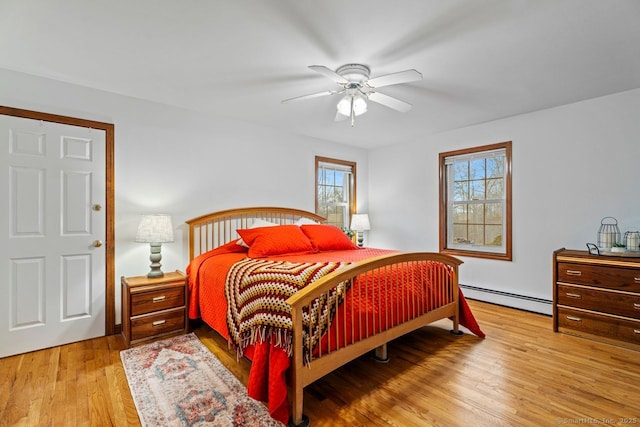
<path id="1" fill-rule="evenodd" d="M 440 153 L 440 251 L 511 261 L 511 141 Z"/>

